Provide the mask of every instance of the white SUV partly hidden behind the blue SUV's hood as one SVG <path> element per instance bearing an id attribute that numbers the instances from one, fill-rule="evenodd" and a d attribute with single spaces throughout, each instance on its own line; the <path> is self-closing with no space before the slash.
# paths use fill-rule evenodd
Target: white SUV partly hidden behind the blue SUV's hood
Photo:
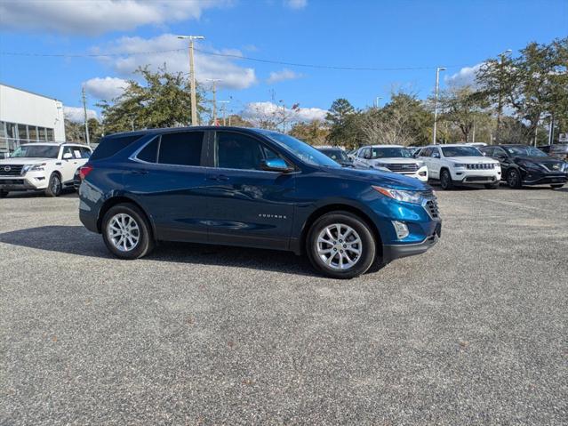
<path id="1" fill-rule="evenodd" d="M 362 147 L 354 154 L 355 165 L 404 174 L 420 181 L 428 181 L 428 168 L 421 160 L 412 157 L 412 151 L 402 145 L 372 145 Z"/>

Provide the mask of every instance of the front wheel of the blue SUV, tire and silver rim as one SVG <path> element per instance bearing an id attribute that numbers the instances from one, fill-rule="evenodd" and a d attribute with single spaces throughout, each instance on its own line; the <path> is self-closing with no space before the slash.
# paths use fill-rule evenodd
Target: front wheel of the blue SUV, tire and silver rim
<path id="1" fill-rule="evenodd" d="M 333 278 L 358 277 L 375 260 L 372 230 L 353 213 L 326 213 L 309 229 L 308 258 L 314 268 Z"/>

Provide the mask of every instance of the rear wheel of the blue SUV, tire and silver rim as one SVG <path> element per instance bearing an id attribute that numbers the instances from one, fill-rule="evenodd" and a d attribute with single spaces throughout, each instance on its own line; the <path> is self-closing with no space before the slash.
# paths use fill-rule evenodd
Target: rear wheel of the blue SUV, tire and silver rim
<path id="1" fill-rule="evenodd" d="M 108 250 L 120 259 L 140 259 L 154 248 L 148 221 L 136 205 L 111 207 L 102 220 L 101 230 Z"/>

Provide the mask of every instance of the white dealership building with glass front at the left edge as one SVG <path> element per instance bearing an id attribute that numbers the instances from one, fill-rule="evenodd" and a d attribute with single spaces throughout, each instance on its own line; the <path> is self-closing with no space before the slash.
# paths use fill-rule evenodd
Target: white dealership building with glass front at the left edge
<path id="1" fill-rule="evenodd" d="M 0 157 L 22 143 L 38 141 L 65 141 L 63 104 L 0 84 Z"/>

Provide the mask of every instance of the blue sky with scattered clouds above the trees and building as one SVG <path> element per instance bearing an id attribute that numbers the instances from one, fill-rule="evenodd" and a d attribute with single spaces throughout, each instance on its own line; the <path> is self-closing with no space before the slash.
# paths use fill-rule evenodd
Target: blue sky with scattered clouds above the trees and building
<path id="1" fill-rule="evenodd" d="M 132 69 L 164 62 L 187 71 L 177 34 L 206 36 L 199 49 L 220 54 L 326 66 L 421 68 L 351 71 L 301 68 L 196 54 L 197 78 L 221 78 L 218 99 L 235 112 L 269 108 L 274 97 L 299 102 L 305 118 L 321 117 L 332 100 L 356 107 L 393 88 L 426 97 L 436 66 L 445 80 L 468 79 L 474 67 L 506 49 L 568 35 L 568 1 L 204 0 L 111 2 L 0 0 L 0 51 L 113 53 L 106 58 L 0 56 L 0 82 L 90 107 L 116 95 Z M 134 54 L 132 52 L 154 52 Z M 156 53 L 162 52 L 162 53 Z M 462 69 L 463 68 L 463 69 Z M 272 76 L 272 77 L 271 77 Z M 257 102 L 265 102 L 264 104 Z"/>

